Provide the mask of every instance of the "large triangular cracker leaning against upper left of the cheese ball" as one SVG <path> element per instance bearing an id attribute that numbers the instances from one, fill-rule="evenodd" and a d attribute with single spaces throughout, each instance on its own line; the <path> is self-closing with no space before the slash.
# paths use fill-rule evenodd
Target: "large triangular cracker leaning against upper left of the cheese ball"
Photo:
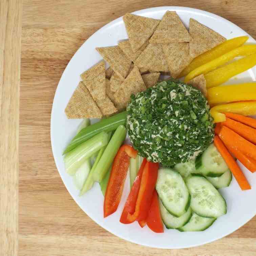
<path id="1" fill-rule="evenodd" d="M 115 92 L 114 98 L 117 103 L 122 104 L 126 107 L 130 102 L 132 94 L 136 94 L 141 91 L 145 91 L 147 88 L 143 82 L 138 67 L 134 66 L 129 76 L 122 83 L 120 89 Z"/>

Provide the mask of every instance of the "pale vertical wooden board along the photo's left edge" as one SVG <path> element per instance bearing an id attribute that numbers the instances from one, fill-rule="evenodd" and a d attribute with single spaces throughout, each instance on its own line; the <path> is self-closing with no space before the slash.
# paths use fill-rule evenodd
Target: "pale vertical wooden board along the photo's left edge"
<path id="1" fill-rule="evenodd" d="M 21 1 L 0 1 L 0 255 L 18 252 Z"/>

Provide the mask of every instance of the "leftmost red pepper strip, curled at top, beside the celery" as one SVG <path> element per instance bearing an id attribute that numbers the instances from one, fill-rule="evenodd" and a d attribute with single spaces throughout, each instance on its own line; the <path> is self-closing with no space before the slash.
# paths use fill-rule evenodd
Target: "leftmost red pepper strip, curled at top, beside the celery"
<path id="1" fill-rule="evenodd" d="M 124 189 L 124 182 L 130 164 L 130 157 L 136 157 L 137 151 L 130 145 L 123 145 L 117 152 L 111 169 L 104 199 L 104 218 L 118 208 Z"/>

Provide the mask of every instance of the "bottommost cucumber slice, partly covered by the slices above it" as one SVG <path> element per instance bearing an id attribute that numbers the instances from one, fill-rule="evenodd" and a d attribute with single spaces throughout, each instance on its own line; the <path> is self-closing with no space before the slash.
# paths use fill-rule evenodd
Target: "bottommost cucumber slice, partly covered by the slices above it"
<path id="1" fill-rule="evenodd" d="M 177 230 L 179 231 L 204 231 L 208 229 L 212 223 L 215 221 L 215 218 L 204 218 L 193 212 L 192 217 L 189 222 Z"/>

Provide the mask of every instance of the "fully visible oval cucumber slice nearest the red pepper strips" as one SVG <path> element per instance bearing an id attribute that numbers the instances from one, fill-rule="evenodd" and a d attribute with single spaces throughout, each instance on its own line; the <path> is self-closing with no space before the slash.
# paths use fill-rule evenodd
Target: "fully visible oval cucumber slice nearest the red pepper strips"
<path id="1" fill-rule="evenodd" d="M 170 169 L 160 168 L 156 191 L 163 205 L 175 217 L 185 214 L 190 205 L 190 194 L 182 176 Z"/>

